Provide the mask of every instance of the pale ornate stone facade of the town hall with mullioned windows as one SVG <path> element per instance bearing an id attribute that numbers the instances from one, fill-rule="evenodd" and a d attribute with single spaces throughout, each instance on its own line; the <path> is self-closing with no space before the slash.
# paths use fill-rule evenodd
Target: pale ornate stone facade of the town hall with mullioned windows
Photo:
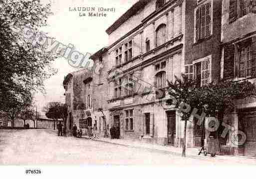
<path id="1" fill-rule="evenodd" d="M 136 14 L 128 10 L 128 17 L 120 17 L 127 20 L 107 29 L 110 121 L 120 127 L 122 139 L 180 146 L 183 122 L 163 104 L 169 99 L 166 79 L 185 72 L 186 4 L 166 0 L 156 9 L 159 0 L 143 2 L 132 7 Z M 169 113 L 174 118 L 168 120 Z"/>

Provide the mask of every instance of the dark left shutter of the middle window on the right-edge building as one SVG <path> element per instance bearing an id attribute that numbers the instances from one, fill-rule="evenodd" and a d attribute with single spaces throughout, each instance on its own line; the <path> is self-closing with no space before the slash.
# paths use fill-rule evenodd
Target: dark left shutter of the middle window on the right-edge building
<path id="1" fill-rule="evenodd" d="M 235 46 L 227 45 L 224 50 L 224 79 L 234 79 Z"/>

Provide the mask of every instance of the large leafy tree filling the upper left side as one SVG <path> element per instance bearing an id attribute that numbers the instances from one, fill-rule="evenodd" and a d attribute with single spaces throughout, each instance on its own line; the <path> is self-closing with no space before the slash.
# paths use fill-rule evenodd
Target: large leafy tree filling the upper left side
<path id="1" fill-rule="evenodd" d="M 50 66 L 56 57 L 31 44 L 49 13 L 50 4 L 39 0 L 0 0 L 1 111 L 22 108 L 23 99 L 43 91 L 43 81 L 56 73 Z M 34 33 L 31 38 L 25 29 Z"/>

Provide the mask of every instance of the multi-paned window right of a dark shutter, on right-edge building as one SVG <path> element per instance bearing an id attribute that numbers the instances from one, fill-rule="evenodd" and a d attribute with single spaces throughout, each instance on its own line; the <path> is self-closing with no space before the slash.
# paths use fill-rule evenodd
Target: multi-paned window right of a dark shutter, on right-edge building
<path id="1" fill-rule="evenodd" d="M 242 47 L 239 50 L 239 77 L 248 77 L 252 75 L 251 47 Z"/>

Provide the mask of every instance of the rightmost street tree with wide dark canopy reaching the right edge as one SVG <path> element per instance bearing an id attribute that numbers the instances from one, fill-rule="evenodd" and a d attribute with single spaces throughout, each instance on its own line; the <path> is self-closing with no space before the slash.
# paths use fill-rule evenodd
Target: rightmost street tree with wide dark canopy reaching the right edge
<path id="1" fill-rule="evenodd" d="M 208 116 L 216 117 L 220 126 L 216 137 L 219 139 L 219 151 L 221 152 L 220 139 L 224 127 L 222 126 L 224 115 L 234 111 L 238 99 L 246 99 L 256 96 L 256 85 L 248 80 L 234 82 L 220 79 L 201 88 L 204 96 L 203 110 Z M 202 99 L 201 99 L 202 100 Z"/>

